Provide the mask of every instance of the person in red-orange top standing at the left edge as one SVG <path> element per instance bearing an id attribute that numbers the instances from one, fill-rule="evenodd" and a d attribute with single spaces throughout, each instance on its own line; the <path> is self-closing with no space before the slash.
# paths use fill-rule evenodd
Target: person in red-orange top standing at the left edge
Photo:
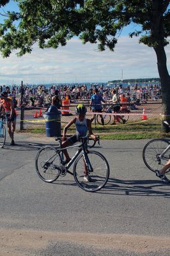
<path id="1" fill-rule="evenodd" d="M 15 113 L 13 100 L 8 99 L 7 92 L 1 93 L 0 97 L 1 97 L 0 114 L 4 113 L 7 118 L 8 133 L 10 135 L 10 138 L 12 139 L 11 145 L 14 146 L 15 142 L 13 140 L 13 134 L 15 132 L 17 115 Z"/>

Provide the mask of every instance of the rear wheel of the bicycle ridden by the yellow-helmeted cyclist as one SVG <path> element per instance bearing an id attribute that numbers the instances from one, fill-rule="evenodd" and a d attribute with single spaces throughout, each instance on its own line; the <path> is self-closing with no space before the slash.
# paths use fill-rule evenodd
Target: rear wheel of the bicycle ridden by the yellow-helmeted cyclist
<path id="1" fill-rule="evenodd" d="M 44 159 L 45 158 L 45 159 Z M 51 161 L 49 163 L 48 161 Z M 59 177 L 59 168 L 61 165 L 61 156 L 55 147 L 44 146 L 40 148 L 36 155 L 35 167 L 40 179 L 45 182 L 53 182 Z"/>

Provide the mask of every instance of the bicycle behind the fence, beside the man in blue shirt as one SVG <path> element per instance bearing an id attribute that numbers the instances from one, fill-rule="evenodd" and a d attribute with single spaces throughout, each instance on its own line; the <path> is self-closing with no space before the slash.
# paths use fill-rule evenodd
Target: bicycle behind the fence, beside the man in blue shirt
<path id="1" fill-rule="evenodd" d="M 130 110 L 127 109 L 121 109 L 116 111 L 115 116 L 116 116 L 116 122 L 119 122 L 120 124 L 125 124 L 129 118 L 129 115 L 118 115 L 118 113 L 123 114 L 123 113 L 129 113 Z M 111 115 L 108 115 L 109 113 L 114 113 L 113 112 L 113 106 L 108 106 L 107 109 L 105 109 L 103 111 L 103 113 L 106 113 L 105 115 L 102 114 L 102 117 L 104 118 L 104 125 L 109 124 L 109 122 L 111 121 Z M 97 122 L 100 125 L 102 124 L 102 120 L 100 118 L 100 115 L 97 115 Z"/>

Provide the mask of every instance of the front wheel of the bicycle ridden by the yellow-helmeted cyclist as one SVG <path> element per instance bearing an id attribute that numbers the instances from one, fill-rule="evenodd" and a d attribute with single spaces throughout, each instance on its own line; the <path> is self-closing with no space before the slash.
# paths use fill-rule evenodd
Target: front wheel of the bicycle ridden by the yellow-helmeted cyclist
<path id="1" fill-rule="evenodd" d="M 93 168 L 92 172 L 88 172 L 90 177 L 90 181 L 84 180 L 84 176 L 86 174 L 85 161 L 83 154 L 81 154 L 75 160 L 73 166 L 73 176 L 78 186 L 85 191 L 95 192 L 103 188 L 109 179 L 109 164 L 105 157 L 96 151 L 89 151 L 87 153 L 89 163 Z"/>

